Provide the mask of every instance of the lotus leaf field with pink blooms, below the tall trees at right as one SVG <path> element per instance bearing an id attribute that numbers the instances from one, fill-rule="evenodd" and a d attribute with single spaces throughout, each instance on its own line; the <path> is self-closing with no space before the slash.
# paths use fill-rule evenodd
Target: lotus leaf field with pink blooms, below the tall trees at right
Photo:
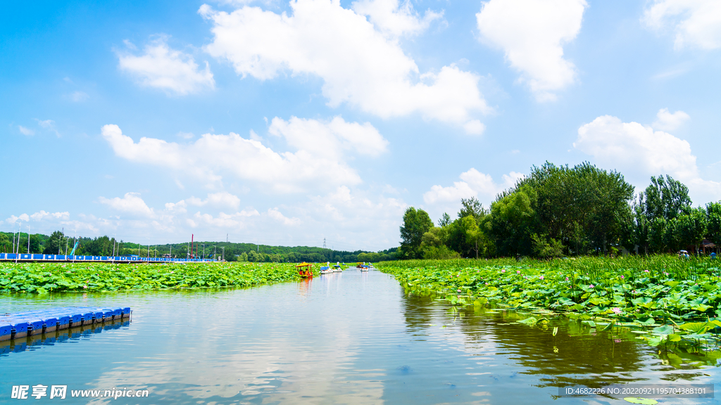
<path id="1" fill-rule="evenodd" d="M 528 326 L 565 317 L 588 332 L 632 331 L 651 346 L 721 357 L 718 260 L 651 257 L 382 262 L 407 293 L 451 306 L 526 311 Z M 555 323 L 555 322 L 554 322 Z"/>

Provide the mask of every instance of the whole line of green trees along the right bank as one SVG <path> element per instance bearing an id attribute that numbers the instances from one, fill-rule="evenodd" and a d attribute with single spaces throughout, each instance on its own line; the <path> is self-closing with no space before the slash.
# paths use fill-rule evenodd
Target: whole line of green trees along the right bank
<path id="1" fill-rule="evenodd" d="M 408 208 L 400 234 L 404 259 L 699 251 L 704 239 L 721 246 L 721 201 L 693 208 L 688 187 L 668 175 L 635 194 L 619 172 L 546 162 L 489 209 L 462 199 L 457 218 L 444 213 L 435 226 Z"/>

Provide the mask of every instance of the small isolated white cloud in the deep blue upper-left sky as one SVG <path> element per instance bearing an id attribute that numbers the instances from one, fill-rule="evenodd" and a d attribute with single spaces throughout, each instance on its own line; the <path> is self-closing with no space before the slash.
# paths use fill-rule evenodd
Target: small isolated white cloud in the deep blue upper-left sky
<path id="1" fill-rule="evenodd" d="M 179 95 L 215 88 L 208 62 L 205 69 L 200 70 L 192 55 L 167 45 L 167 36 L 151 41 L 144 51 L 140 56 L 118 52 L 120 69 L 133 74 L 143 86 Z"/>

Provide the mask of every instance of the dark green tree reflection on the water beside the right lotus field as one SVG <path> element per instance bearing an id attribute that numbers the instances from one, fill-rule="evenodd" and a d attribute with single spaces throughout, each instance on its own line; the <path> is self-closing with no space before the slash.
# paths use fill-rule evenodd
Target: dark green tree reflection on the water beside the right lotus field
<path id="1" fill-rule="evenodd" d="M 718 375 L 716 368 L 699 370 L 715 365 L 715 357 L 650 347 L 628 329 L 599 331 L 561 316 L 551 317 L 546 325 L 528 326 L 517 323 L 528 313 L 454 307 L 446 301 L 415 295 L 404 297 L 403 308 L 409 334 L 430 337 L 440 328 L 446 331 L 446 339 L 462 344 L 469 355 L 502 356 L 515 363 L 514 373 L 536 376 L 534 386 L 539 388 L 717 380 L 709 378 Z"/>

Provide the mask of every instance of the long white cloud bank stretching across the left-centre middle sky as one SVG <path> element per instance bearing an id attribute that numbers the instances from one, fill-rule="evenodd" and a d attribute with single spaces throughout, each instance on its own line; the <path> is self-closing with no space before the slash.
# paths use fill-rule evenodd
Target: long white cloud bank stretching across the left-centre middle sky
<path id="1" fill-rule="evenodd" d="M 314 133 L 318 130 L 318 133 Z M 311 184 L 329 187 L 358 184 L 361 177 L 346 163 L 343 154 L 328 154 L 321 146 L 351 150 L 376 156 L 385 150 L 387 141 L 372 125 L 346 123 L 335 117 L 329 122 L 275 118 L 270 131 L 282 136 L 296 152 L 278 153 L 260 141 L 229 135 L 205 134 L 187 145 L 156 138 L 141 138 L 137 143 L 123 135 L 118 125 L 102 127 L 102 136 L 115 154 L 143 164 L 154 164 L 198 178 L 221 182 L 224 174 L 260 182 L 278 192 L 297 192 Z M 325 145 L 314 142 L 323 141 Z M 324 159 L 318 159 L 323 153 Z"/>

